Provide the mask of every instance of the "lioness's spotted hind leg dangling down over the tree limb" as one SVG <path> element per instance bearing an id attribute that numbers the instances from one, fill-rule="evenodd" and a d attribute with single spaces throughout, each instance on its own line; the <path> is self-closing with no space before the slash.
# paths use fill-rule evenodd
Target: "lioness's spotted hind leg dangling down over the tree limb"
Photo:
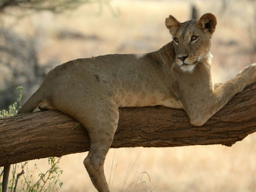
<path id="1" fill-rule="evenodd" d="M 109 192 L 104 175 L 104 161 L 111 147 L 118 124 L 118 108 L 114 102 L 108 100 L 107 104 L 97 105 L 90 109 L 90 117 L 76 119 L 88 131 L 90 137 L 90 150 L 84 159 L 84 166 L 92 180 L 94 187 L 99 192 Z"/>

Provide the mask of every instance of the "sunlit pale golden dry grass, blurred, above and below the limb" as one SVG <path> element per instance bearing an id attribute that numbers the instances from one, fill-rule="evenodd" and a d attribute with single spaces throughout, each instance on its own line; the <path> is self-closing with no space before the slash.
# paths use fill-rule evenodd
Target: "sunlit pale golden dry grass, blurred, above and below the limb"
<path id="1" fill-rule="evenodd" d="M 37 37 L 42 64 L 58 60 L 57 65 L 76 58 L 111 53 L 151 52 L 171 40 L 164 25 L 165 18 L 172 14 L 180 21 L 188 20 L 191 2 L 115 0 L 111 5 L 115 12 L 120 11 L 118 17 L 113 16 L 106 6 L 97 16 L 98 5 L 90 4 L 62 15 L 35 14 L 19 21 L 15 28 L 20 33 Z M 255 7 L 247 1 L 233 0 L 228 1 L 227 10 L 221 13 L 220 0 L 195 2 L 200 15 L 212 12 L 218 18 L 212 38 L 216 82 L 235 76 L 255 62 L 255 55 L 249 51 L 252 39 L 247 33 L 253 22 L 256 28 L 252 19 Z M 83 38 L 58 38 L 61 33 L 70 34 L 70 31 L 82 34 Z M 133 171 L 149 174 L 150 183 L 145 179 L 148 189 L 158 186 L 154 191 L 256 191 L 255 142 L 256 135 L 252 134 L 231 148 L 216 145 L 116 149 L 113 188 L 124 180 L 129 163 L 133 164 L 140 152 Z M 95 191 L 83 166 L 86 155 L 62 157 L 60 167 L 64 172 L 60 180 L 64 184 L 60 191 Z M 113 156 L 114 149 L 110 149 L 105 162 L 107 180 Z M 47 164 L 46 160 L 35 162 L 42 167 Z M 120 191 L 120 188 L 114 191 Z"/>

